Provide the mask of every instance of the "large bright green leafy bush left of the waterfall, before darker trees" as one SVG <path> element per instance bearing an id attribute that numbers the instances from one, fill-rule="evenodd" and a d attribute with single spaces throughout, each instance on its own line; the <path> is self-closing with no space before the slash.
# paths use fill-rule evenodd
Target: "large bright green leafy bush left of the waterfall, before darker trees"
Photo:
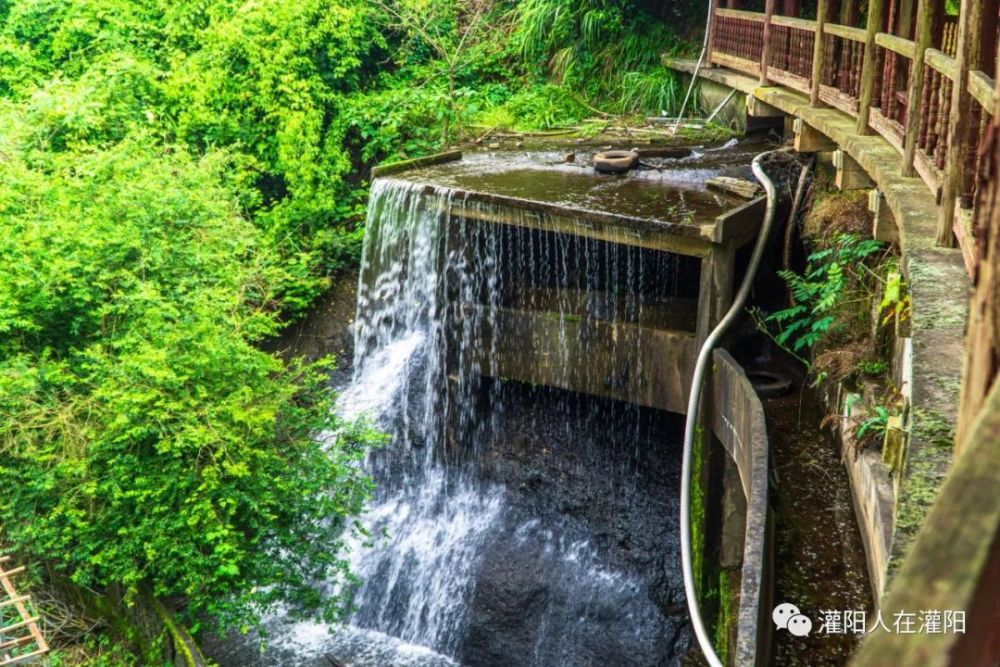
<path id="1" fill-rule="evenodd" d="M 312 582 L 345 576 L 372 437 L 331 415 L 328 364 L 256 347 L 278 269 L 228 156 L 134 137 L 39 167 L 3 123 L 0 542 L 223 627 L 332 617 Z"/>

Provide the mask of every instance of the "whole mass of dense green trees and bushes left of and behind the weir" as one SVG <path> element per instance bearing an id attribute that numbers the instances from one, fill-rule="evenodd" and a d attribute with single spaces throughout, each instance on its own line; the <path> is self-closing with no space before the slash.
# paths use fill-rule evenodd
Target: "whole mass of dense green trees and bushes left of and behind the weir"
<path id="1" fill-rule="evenodd" d="M 3 548 L 223 625 L 334 614 L 374 436 L 259 344 L 353 266 L 376 162 L 669 105 L 636 9 L 0 0 Z"/>

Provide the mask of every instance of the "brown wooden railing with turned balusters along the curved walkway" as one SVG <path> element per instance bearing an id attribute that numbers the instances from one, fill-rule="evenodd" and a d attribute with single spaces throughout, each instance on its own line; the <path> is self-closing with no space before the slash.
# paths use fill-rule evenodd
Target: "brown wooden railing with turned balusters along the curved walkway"
<path id="1" fill-rule="evenodd" d="M 818 0 L 821 17 L 830 1 Z M 916 17 L 911 40 L 883 31 L 886 4 L 894 6 L 869 0 L 867 29 L 777 16 L 776 0 L 767 0 L 764 13 L 716 8 L 709 59 L 758 77 L 763 85 L 805 93 L 814 106 L 829 105 L 857 118 L 859 133 L 885 138 L 899 151 L 903 174 L 919 176 L 937 197 L 942 210 L 938 242 L 950 245 L 957 239 L 971 272 L 973 235 L 963 227 L 969 216 L 952 211 L 956 203 L 973 206 L 997 84 L 982 69 L 960 71 L 965 61 L 959 58 L 959 40 L 963 34 L 969 39 L 983 9 L 963 3 L 980 12 L 963 17 L 973 26 L 964 32 L 959 17 L 938 15 L 933 26 L 929 12 Z M 994 10 L 987 9 L 986 18 Z M 960 76 L 962 85 L 956 85 Z"/>

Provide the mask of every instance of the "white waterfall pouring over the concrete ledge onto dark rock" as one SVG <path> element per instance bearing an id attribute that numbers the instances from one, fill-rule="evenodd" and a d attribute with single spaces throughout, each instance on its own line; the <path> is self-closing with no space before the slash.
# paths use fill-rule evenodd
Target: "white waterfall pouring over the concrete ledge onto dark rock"
<path id="1" fill-rule="evenodd" d="M 498 363 L 497 347 L 510 333 L 498 319 L 502 307 L 559 315 L 561 358 L 554 366 L 568 381 L 582 360 L 570 357 L 566 323 L 581 314 L 641 321 L 643 292 L 669 292 L 664 286 L 682 282 L 680 268 L 663 254 L 650 260 L 637 249 L 531 230 L 528 218 L 537 217 L 405 180 L 372 186 L 355 375 L 338 406 L 348 416 L 372 416 L 391 444 L 367 462 L 376 495 L 364 521 L 374 546 L 353 551 L 361 583 L 350 623 L 456 659 L 509 664 L 499 657 L 490 662 L 493 649 L 481 646 L 482 637 L 470 648 L 484 634 L 481 618 L 470 616 L 484 606 L 504 616 L 497 604 L 510 602 L 504 595 L 517 599 L 521 591 L 484 593 L 477 590 L 479 579 L 490 571 L 501 582 L 516 579 L 523 573 L 507 572 L 504 564 L 534 553 L 531 565 L 538 571 L 528 574 L 526 586 L 544 599 L 537 605 L 522 601 L 523 613 L 535 614 L 538 622 L 519 631 L 530 634 L 524 646 L 531 648 L 519 652 L 516 664 L 594 664 L 595 656 L 605 654 L 610 657 L 600 664 L 647 664 L 649 656 L 669 654 L 670 645 L 686 642 L 683 620 L 662 618 L 649 600 L 648 584 L 603 562 L 585 531 L 574 526 L 557 534 L 551 521 L 543 525 L 518 507 L 510 489 L 491 479 L 496 475 L 483 474 L 488 466 L 481 454 L 504 437 L 508 406 L 502 383 L 480 376 Z M 490 222 L 497 219 L 507 224 Z M 643 284 L 650 276 L 662 285 Z M 615 354 L 641 363 L 641 352 L 623 343 Z M 556 400 L 551 410 L 567 424 L 590 424 L 595 433 L 626 428 L 638 435 L 640 428 L 638 413 L 626 409 L 622 418 L 620 406 L 581 409 Z M 569 426 L 559 431 L 577 437 Z M 482 599 L 490 594 L 501 602 Z M 621 618 L 603 618 L 609 604 Z M 606 646 L 595 646 L 600 640 L 593 628 L 600 623 L 634 636 L 608 637 Z M 618 646 L 622 641 L 628 648 Z"/>

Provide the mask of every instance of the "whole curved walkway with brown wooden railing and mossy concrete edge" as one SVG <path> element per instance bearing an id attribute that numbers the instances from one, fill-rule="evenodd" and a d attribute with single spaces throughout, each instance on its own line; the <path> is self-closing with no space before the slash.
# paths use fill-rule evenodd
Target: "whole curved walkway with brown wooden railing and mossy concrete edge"
<path id="1" fill-rule="evenodd" d="M 904 463 L 882 490 L 848 468 L 880 609 L 975 622 L 873 635 L 852 664 L 996 664 L 1000 0 L 711 2 L 700 78 L 745 94 L 748 127 L 784 123 L 798 150 L 827 152 L 841 189 L 870 189 L 913 299 Z"/>

